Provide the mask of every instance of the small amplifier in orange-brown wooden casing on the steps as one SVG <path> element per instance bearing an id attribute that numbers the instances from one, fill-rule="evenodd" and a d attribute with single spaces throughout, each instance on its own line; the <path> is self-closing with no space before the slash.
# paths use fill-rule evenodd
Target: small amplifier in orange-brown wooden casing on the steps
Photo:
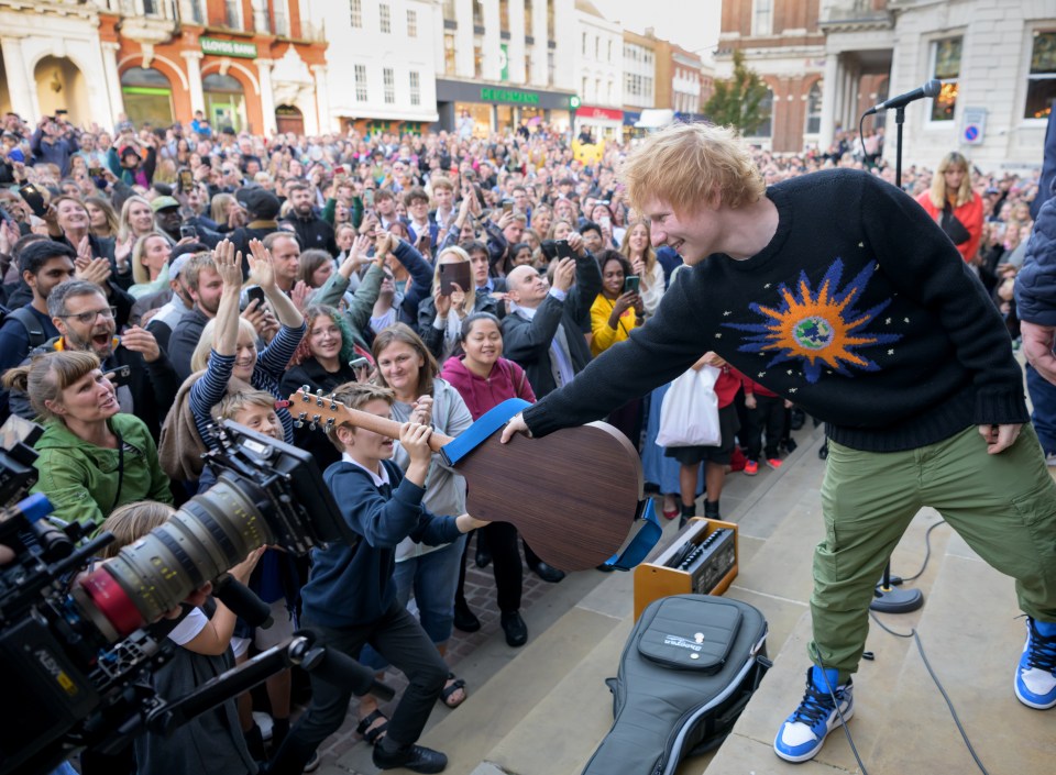
<path id="1" fill-rule="evenodd" d="M 635 619 L 669 595 L 722 595 L 737 577 L 737 524 L 695 517 L 650 563 L 635 568 Z"/>

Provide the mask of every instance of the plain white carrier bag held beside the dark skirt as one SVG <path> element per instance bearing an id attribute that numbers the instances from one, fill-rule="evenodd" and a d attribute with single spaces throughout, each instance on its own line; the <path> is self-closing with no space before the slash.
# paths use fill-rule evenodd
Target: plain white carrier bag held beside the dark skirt
<path id="1" fill-rule="evenodd" d="M 718 446 L 723 434 L 718 425 L 718 397 L 715 381 L 721 369 L 714 366 L 692 368 L 668 388 L 660 407 L 658 446 Z"/>

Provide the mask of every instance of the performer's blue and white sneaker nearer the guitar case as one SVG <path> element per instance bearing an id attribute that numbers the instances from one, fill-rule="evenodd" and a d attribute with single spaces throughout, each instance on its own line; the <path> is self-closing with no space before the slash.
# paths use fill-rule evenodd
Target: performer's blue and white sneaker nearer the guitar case
<path id="1" fill-rule="evenodd" d="M 826 683 L 827 678 L 827 683 Z M 814 759 L 825 738 L 855 712 L 851 682 L 837 686 L 839 674 L 834 669 L 822 671 L 814 666 L 806 672 L 806 694 L 773 740 L 773 752 L 787 762 L 805 762 Z M 829 694 L 832 687 L 832 694 Z M 837 712 L 833 695 L 839 704 Z M 843 713 L 843 717 L 840 717 Z"/>

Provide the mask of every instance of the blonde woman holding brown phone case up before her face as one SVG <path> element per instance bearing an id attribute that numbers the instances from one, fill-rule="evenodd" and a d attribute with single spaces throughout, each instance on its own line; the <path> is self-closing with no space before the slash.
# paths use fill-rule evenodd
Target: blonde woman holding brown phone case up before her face
<path id="1" fill-rule="evenodd" d="M 452 284 L 450 292 L 444 294 L 444 284 L 440 281 L 440 267 L 451 264 L 465 264 L 468 288 Z M 418 305 L 418 335 L 429 352 L 439 362 L 447 361 L 458 350 L 462 336 L 462 321 L 473 312 L 498 314 L 498 302 L 487 294 L 477 294 L 470 267 L 470 254 L 461 247 L 446 247 L 437 256 L 437 267 L 432 273 L 432 296 Z"/>

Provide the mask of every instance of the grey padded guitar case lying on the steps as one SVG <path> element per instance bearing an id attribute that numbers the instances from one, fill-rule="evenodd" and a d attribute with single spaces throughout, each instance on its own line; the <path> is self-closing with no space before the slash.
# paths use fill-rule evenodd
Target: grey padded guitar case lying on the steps
<path id="1" fill-rule="evenodd" d="M 673 775 L 717 748 L 763 674 L 767 620 L 710 595 L 654 600 L 627 639 L 613 690 L 615 721 L 583 775 Z"/>

